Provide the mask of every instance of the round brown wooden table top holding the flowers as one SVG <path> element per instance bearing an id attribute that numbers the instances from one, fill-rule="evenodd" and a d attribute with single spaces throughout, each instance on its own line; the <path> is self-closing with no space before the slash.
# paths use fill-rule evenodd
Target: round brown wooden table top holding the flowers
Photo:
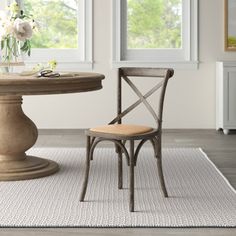
<path id="1" fill-rule="evenodd" d="M 70 72 L 61 77 L 45 78 L 16 73 L 0 74 L 0 96 L 79 93 L 102 88 L 103 74 Z"/>

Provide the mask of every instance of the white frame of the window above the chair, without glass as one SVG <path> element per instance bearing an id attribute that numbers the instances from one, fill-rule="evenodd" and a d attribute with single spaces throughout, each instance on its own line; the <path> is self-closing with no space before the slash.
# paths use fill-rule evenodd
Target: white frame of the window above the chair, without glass
<path id="1" fill-rule="evenodd" d="M 183 0 L 181 49 L 127 49 L 126 0 L 113 0 L 113 65 L 198 68 L 198 0 Z"/>

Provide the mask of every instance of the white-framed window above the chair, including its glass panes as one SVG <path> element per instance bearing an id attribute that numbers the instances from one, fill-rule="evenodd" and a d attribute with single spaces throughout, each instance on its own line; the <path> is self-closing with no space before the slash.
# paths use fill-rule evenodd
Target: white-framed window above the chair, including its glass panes
<path id="1" fill-rule="evenodd" d="M 196 68 L 197 8 L 197 0 L 114 0 L 114 64 Z"/>

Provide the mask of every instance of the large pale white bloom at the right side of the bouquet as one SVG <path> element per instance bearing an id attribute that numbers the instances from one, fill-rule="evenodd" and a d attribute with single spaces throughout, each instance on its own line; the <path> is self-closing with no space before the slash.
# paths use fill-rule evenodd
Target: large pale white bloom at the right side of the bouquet
<path id="1" fill-rule="evenodd" d="M 30 39 L 32 37 L 32 28 L 28 21 L 24 21 L 22 19 L 16 19 L 14 21 L 14 35 L 20 40 L 24 41 L 26 39 Z"/>

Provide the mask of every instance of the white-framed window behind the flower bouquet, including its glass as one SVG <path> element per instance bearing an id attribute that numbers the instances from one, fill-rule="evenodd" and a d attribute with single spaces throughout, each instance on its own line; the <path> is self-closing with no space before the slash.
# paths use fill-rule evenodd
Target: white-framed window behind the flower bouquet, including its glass
<path id="1" fill-rule="evenodd" d="M 92 65 L 92 0 L 18 0 L 39 31 L 27 64 L 56 59 L 65 69 Z"/>

